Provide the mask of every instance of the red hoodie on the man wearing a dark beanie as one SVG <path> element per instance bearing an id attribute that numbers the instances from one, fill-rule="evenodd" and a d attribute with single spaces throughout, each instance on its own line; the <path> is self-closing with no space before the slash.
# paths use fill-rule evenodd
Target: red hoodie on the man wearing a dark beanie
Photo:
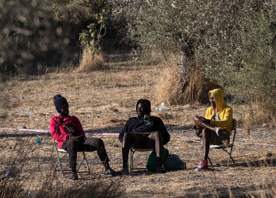
<path id="1" fill-rule="evenodd" d="M 62 119 L 63 122 L 68 127 L 74 127 L 77 131 L 79 131 L 81 136 L 85 135 L 83 128 L 80 124 L 80 121 L 77 117 L 75 116 L 63 117 L 61 115 L 54 116 L 50 120 L 50 132 L 51 132 L 52 138 L 57 141 L 59 148 L 62 148 L 62 144 L 66 140 L 67 136 L 72 136 L 71 134 L 67 133 L 66 128 L 64 124 L 60 121 L 60 119 Z M 59 122 L 59 128 L 57 129 L 58 122 Z"/>

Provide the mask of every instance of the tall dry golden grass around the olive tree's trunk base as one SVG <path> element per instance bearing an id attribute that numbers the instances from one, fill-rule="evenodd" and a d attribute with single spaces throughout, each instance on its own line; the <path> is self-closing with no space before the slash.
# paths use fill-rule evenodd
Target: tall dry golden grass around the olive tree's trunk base
<path id="1" fill-rule="evenodd" d="M 163 68 L 157 81 L 157 100 L 168 105 L 206 103 L 209 98 L 206 92 L 217 85 L 206 79 L 199 66 L 194 62 L 186 65 L 186 70 L 180 75 L 180 67 L 176 55 L 163 62 Z M 187 76 L 187 77 L 183 77 Z"/>

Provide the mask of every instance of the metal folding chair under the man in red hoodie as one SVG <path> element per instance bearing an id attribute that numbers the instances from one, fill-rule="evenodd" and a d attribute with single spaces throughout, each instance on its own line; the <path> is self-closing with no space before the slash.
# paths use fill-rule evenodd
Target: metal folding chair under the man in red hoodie
<path id="1" fill-rule="evenodd" d="M 57 154 L 57 158 L 58 158 L 58 163 L 57 163 L 56 166 L 55 166 L 54 172 L 56 172 L 57 166 L 59 165 L 60 170 L 57 170 L 57 171 L 61 171 L 62 176 L 64 176 L 64 174 L 66 174 L 66 173 L 71 173 L 71 172 L 72 172 L 71 169 L 63 169 L 63 168 L 62 168 L 62 165 L 61 165 L 61 159 L 62 159 L 63 157 L 65 157 L 65 156 L 68 154 L 68 152 L 67 152 L 66 150 L 59 149 L 59 148 L 57 147 L 56 142 L 55 142 L 54 139 L 53 139 L 53 142 L 54 142 L 54 146 L 55 146 L 55 150 L 56 150 L 56 154 Z M 62 157 L 59 157 L 59 154 L 58 154 L 59 152 L 60 152 L 60 153 L 63 153 Z M 89 167 L 88 167 L 88 164 L 87 164 L 87 160 L 86 160 L 84 151 L 80 151 L 80 152 L 82 152 L 83 158 L 82 158 L 82 160 L 81 160 L 81 162 L 80 162 L 80 164 L 79 164 L 79 166 L 78 166 L 78 168 L 77 168 L 77 172 L 78 172 L 78 173 L 82 173 L 82 172 L 89 172 L 89 173 L 90 173 L 90 169 L 89 169 Z M 83 162 L 85 162 L 87 171 L 79 171 L 80 166 L 82 165 Z"/>

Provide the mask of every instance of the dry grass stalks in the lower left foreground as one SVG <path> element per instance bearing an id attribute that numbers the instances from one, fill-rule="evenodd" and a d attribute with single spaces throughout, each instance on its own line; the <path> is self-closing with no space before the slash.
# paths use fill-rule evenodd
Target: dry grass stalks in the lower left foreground
<path id="1" fill-rule="evenodd" d="M 123 179 L 106 180 L 100 174 L 87 175 L 89 179 L 80 182 L 62 182 L 54 173 L 53 152 L 43 153 L 39 166 L 35 165 L 39 146 L 32 137 L 17 138 L 8 150 L 9 160 L 0 164 L 10 167 L 10 174 L 0 176 L 1 197 L 122 197 L 125 191 Z M 46 154 L 46 155 L 45 155 Z M 50 160 L 49 160 L 50 159 Z M 3 174 L 3 175 L 4 175 Z M 28 183 L 34 181 L 32 185 Z"/>

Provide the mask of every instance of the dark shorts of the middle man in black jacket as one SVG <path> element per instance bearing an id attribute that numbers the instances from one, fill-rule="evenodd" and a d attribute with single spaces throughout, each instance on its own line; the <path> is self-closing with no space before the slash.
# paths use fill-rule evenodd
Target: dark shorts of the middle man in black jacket
<path id="1" fill-rule="evenodd" d="M 153 133 L 134 133 L 135 141 L 131 146 L 135 149 L 154 149 L 155 143 L 151 139 Z"/>

